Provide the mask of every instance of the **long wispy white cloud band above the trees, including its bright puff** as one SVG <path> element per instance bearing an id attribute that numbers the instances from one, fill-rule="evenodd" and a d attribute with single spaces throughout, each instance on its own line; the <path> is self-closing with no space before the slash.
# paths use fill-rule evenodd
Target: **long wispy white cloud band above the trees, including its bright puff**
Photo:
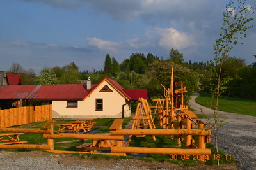
<path id="1" fill-rule="evenodd" d="M 96 47 L 106 53 L 121 53 L 122 50 L 147 51 L 163 49 L 168 51 L 171 48 L 183 50 L 197 45 L 193 36 L 185 32 L 177 31 L 174 28 L 149 29 L 140 38 L 126 39 L 122 42 L 104 41 L 93 37 L 87 38 L 88 46 Z"/>

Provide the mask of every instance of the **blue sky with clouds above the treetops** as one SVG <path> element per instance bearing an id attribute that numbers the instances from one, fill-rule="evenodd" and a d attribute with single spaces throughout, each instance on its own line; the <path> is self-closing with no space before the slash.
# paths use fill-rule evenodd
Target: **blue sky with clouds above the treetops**
<path id="1" fill-rule="evenodd" d="M 189 62 L 214 59 L 224 0 L 1 0 L 0 71 L 13 62 L 36 73 L 74 62 L 79 71 L 103 69 L 132 53 L 168 59 L 171 48 Z M 246 1 L 255 6 L 256 1 Z M 255 16 L 252 15 L 254 18 Z M 250 22 L 255 25 L 256 20 Z M 256 62 L 256 27 L 228 55 Z"/>

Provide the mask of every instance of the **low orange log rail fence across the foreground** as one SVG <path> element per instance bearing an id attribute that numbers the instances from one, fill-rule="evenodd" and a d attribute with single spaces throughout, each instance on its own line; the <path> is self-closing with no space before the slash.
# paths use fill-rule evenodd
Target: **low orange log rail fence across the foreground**
<path id="1" fill-rule="evenodd" d="M 122 129 L 124 119 L 116 119 L 110 127 L 110 135 L 95 135 L 95 134 L 54 134 L 53 127 L 56 120 L 48 120 L 40 129 L 24 129 L 24 128 L 0 128 L 0 132 L 22 132 L 42 134 L 43 138 L 47 139 L 47 144 L 13 144 L 0 145 L 0 149 L 42 149 L 54 153 L 95 153 L 95 154 L 111 154 L 111 155 L 126 155 L 126 153 L 151 153 L 151 154 L 178 154 L 178 155 L 211 155 L 211 150 L 207 149 L 207 136 L 211 135 L 211 130 L 205 130 L 204 124 L 198 125 L 198 129 Z M 141 148 L 124 146 L 124 135 L 180 135 L 198 136 L 198 147 L 196 148 Z M 57 138 L 77 138 L 77 139 L 96 139 L 96 140 L 116 140 L 116 146 L 110 148 L 110 153 L 101 152 L 77 152 L 54 150 L 54 139 Z M 190 143 L 191 145 L 191 143 Z M 95 148 L 97 149 L 97 148 Z M 102 148 L 99 148 L 102 150 Z M 200 161 L 205 161 L 202 157 Z"/>

